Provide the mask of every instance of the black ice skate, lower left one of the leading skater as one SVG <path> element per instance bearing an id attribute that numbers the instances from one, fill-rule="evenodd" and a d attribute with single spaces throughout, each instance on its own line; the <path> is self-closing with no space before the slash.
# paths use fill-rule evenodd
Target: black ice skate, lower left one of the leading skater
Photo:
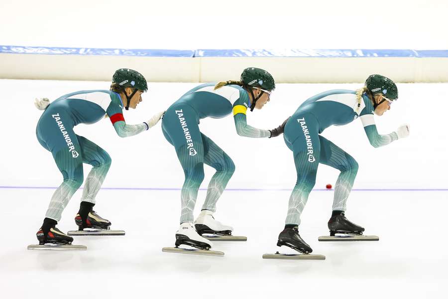
<path id="1" fill-rule="evenodd" d="M 286 228 L 278 236 L 277 246 L 287 246 L 301 254 L 264 254 L 263 259 L 285 259 L 285 260 L 325 260 L 323 255 L 310 254 L 313 249 L 300 237 L 297 226 Z"/>

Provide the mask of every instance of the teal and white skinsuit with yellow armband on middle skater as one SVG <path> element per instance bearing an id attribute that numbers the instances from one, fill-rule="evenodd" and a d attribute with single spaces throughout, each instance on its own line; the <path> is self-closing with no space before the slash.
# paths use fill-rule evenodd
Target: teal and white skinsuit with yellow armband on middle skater
<path id="1" fill-rule="evenodd" d="M 268 130 L 248 126 L 246 110 L 250 107 L 247 92 L 238 85 L 226 85 L 214 90 L 215 83 L 200 85 L 171 105 L 162 120 L 166 140 L 176 149 L 184 169 L 181 191 L 180 222 L 193 222 L 193 210 L 199 186 L 204 180 L 204 164 L 216 169 L 202 206 L 215 212 L 216 202 L 235 170 L 235 164 L 223 149 L 199 130 L 199 121 L 206 117 L 223 118 L 233 111 L 236 132 L 252 138 L 270 137 Z"/>

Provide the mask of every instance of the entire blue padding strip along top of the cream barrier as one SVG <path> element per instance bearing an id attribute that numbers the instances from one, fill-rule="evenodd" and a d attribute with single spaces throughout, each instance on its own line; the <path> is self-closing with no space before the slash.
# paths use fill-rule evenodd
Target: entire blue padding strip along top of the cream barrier
<path id="1" fill-rule="evenodd" d="M 388 50 L 388 49 L 323 49 L 323 50 L 257 50 L 257 49 L 113 49 L 2 46 L 0 53 L 56 54 L 56 55 L 103 55 L 136 57 L 448 57 L 448 50 Z"/>

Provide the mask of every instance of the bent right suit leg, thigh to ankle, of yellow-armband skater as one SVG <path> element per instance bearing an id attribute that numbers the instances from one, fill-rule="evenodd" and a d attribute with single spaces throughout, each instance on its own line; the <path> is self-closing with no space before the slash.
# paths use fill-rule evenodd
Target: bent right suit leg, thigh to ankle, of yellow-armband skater
<path id="1" fill-rule="evenodd" d="M 201 133 L 204 144 L 204 163 L 216 169 L 207 188 L 207 196 L 202 210 L 216 211 L 216 203 L 223 194 L 228 180 L 235 171 L 232 159 L 210 138 Z"/>

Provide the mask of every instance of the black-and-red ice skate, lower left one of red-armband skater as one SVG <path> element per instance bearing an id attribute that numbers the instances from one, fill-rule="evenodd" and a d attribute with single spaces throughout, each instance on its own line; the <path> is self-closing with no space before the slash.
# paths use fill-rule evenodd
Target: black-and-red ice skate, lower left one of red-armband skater
<path id="1" fill-rule="evenodd" d="M 30 250 L 86 250 L 86 246 L 72 245 L 73 238 L 67 236 L 56 227 L 50 228 L 45 235 L 41 228 L 36 233 L 39 245 L 29 245 Z"/>

